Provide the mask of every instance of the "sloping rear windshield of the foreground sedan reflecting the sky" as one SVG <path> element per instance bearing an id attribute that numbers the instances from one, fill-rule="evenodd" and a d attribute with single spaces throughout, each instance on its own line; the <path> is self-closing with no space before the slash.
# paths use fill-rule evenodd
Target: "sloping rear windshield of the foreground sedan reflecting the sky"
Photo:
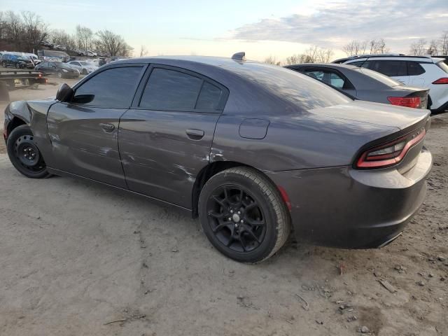
<path id="1" fill-rule="evenodd" d="M 281 66 L 246 62 L 232 71 L 262 85 L 267 90 L 302 109 L 346 104 L 352 99 L 307 75 Z"/>

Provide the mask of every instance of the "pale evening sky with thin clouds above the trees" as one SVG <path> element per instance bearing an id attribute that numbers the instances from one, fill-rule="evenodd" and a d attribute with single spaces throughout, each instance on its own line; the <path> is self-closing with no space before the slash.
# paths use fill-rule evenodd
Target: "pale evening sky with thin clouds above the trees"
<path id="1" fill-rule="evenodd" d="M 409 52 L 420 38 L 448 31 L 448 0 L 0 0 L 0 10 L 31 10 L 50 29 L 109 29 L 139 55 L 210 55 L 283 60 L 311 45 L 334 50 L 356 39 L 384 38 Z"/>

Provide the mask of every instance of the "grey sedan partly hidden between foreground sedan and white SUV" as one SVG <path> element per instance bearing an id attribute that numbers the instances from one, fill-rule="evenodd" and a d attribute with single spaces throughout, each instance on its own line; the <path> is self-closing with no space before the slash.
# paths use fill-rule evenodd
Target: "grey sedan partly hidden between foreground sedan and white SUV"
<path id="1" fill-rule="evenodd" d="M 360 100 L 426 109 L 429 89 L 403 85 L 376 71 L 345 64 L 297 64 L 285 66 Z"/>

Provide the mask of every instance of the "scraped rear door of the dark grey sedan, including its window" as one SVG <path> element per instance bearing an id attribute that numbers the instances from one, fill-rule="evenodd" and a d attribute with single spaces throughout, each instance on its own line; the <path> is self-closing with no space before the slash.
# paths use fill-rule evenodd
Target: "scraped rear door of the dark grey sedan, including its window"
<path id="1" fill-rule="evenodd" d="M 118 141 L 127 185 L 190 209 L 193 184 L 209 163 L 228 92 L 179 68 L 157 66 L 147 76 L 139 89 L 141 99 L 134 99 L 120 119 Z"/>

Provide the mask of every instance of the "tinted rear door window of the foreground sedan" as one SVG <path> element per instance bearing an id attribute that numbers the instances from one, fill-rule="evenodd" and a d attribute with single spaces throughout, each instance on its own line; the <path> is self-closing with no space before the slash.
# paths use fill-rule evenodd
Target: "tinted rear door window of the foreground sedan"
<path id="1" fill-rule="evenodd" d="M 140 106 L 151 110 L 194 109 L 202 79 L 175 70 L 155 68 Z"/>

